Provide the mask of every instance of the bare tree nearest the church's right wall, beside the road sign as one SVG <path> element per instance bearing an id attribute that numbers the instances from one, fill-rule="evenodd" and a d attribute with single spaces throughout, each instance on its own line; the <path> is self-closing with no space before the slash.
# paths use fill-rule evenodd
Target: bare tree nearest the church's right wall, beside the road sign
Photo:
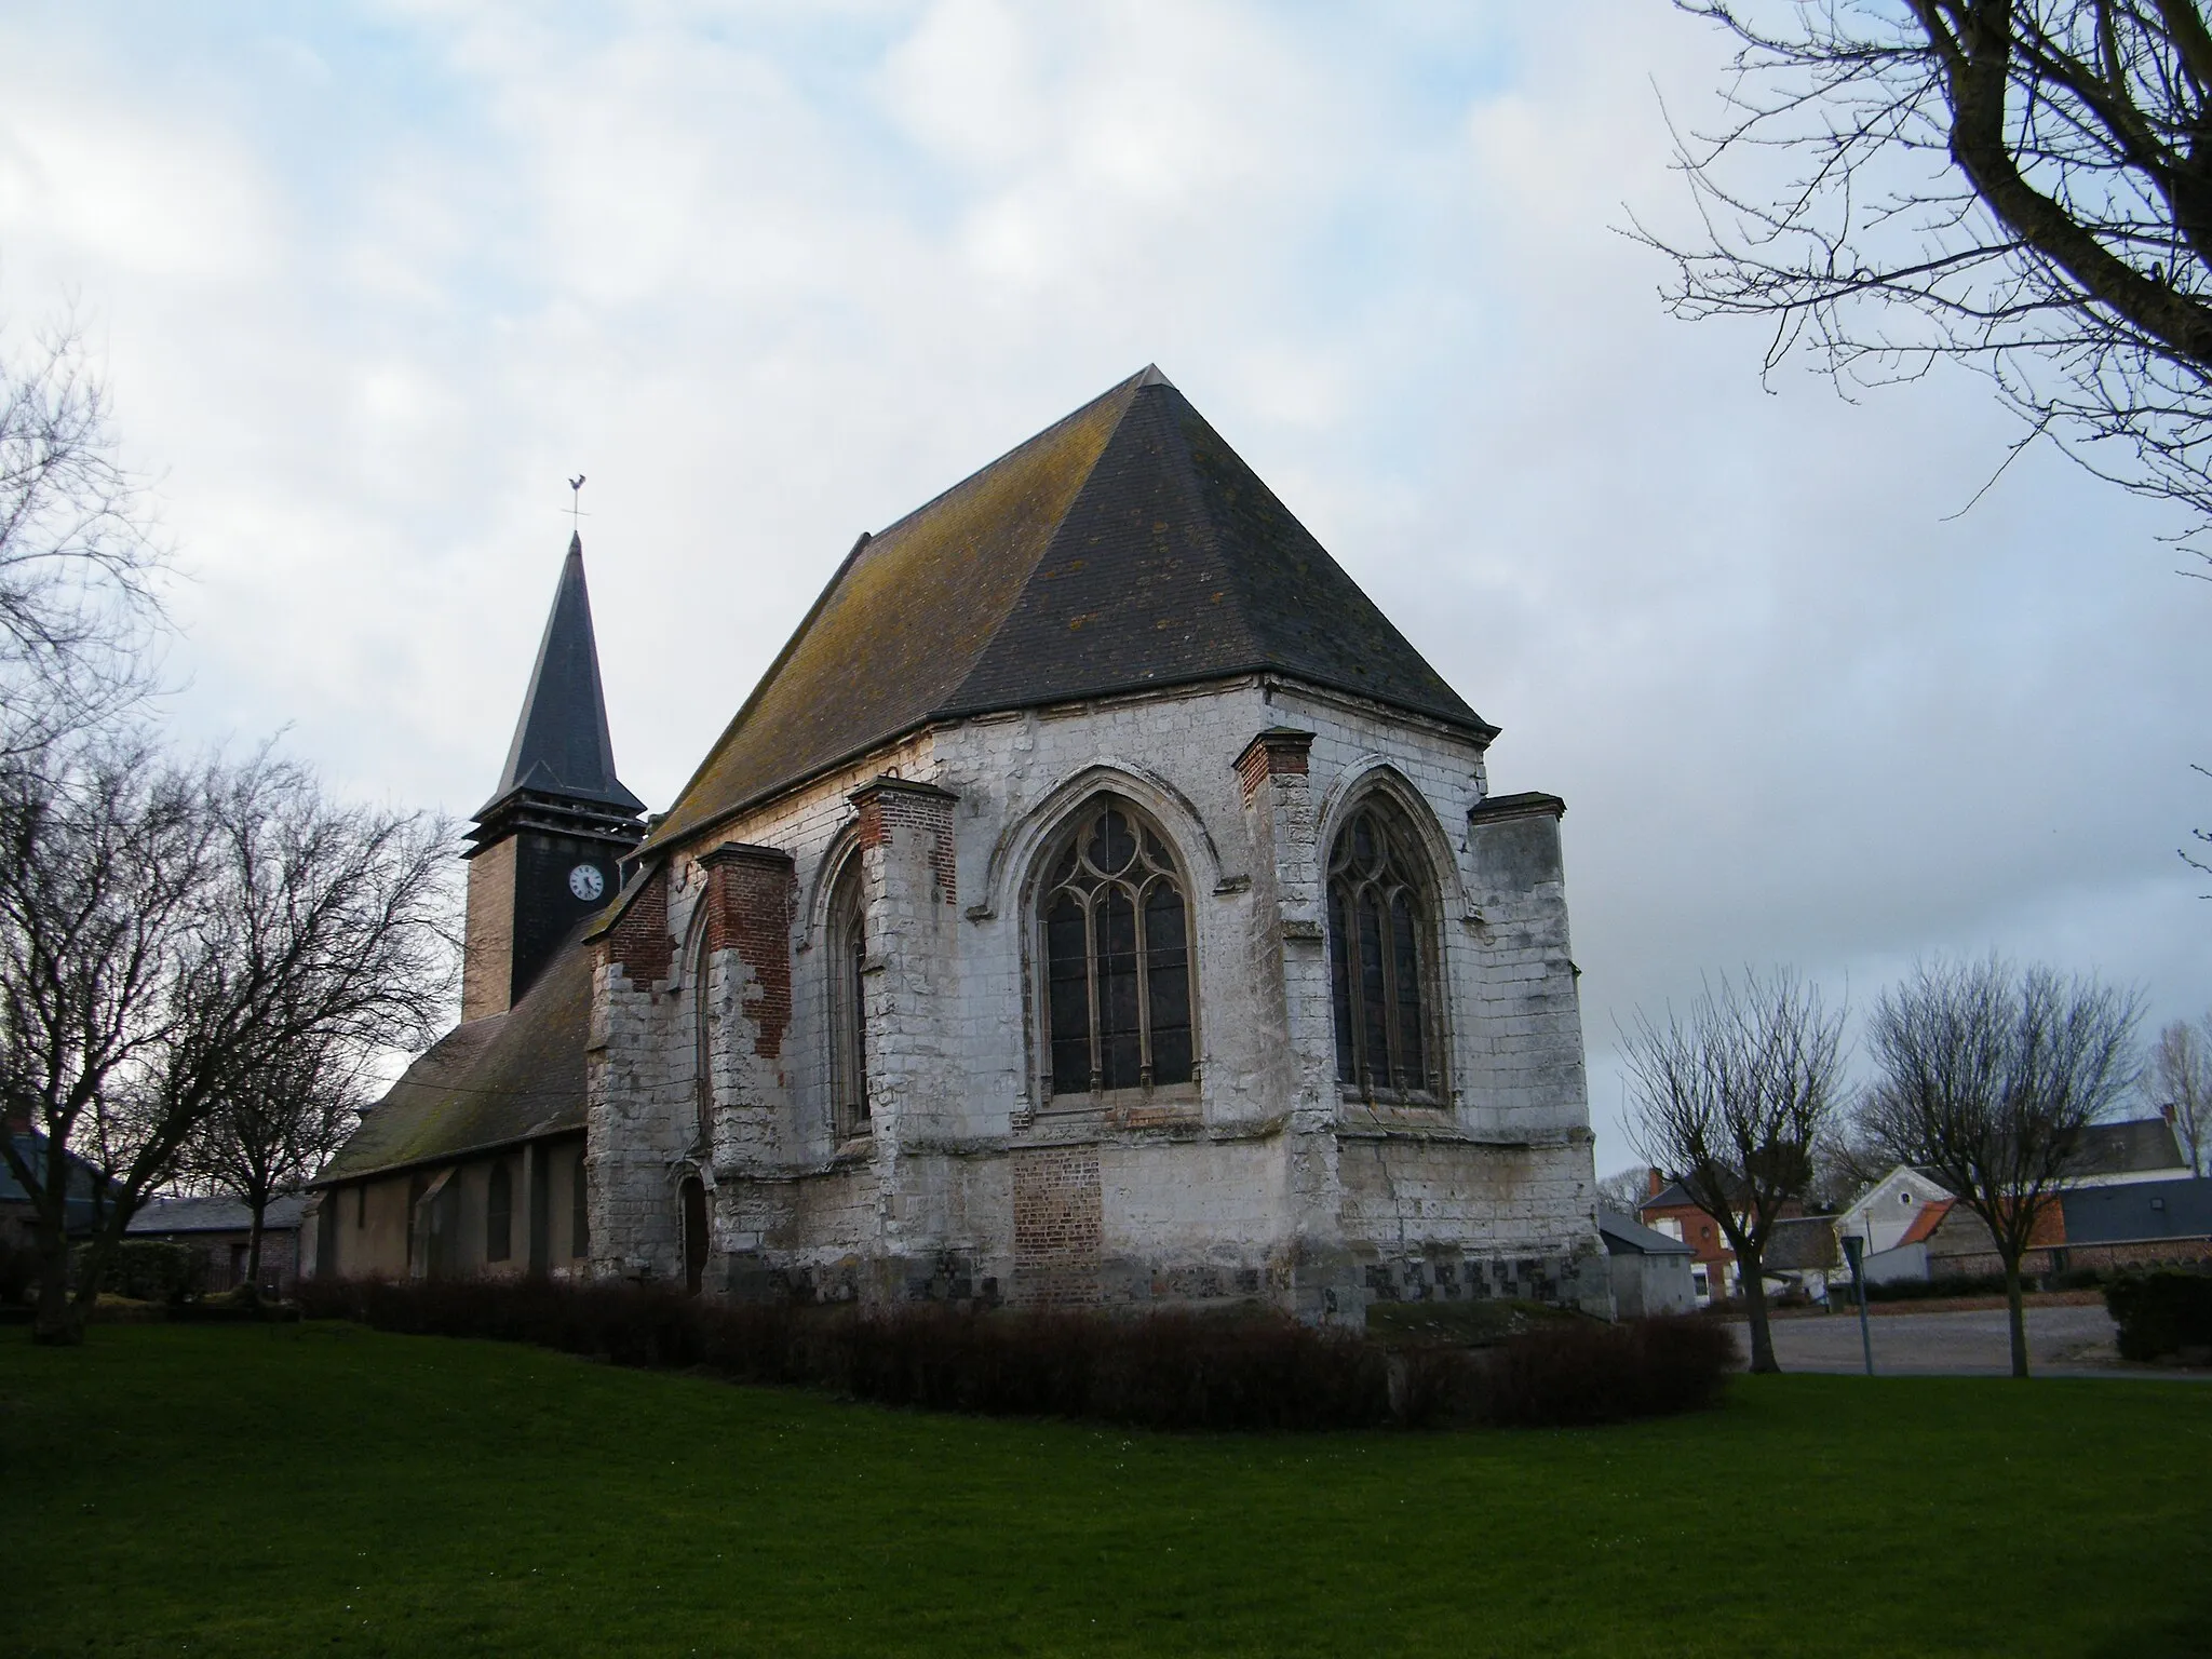
<path id="1" fill-rule="evenodd" d="M 1774 1223 L 1812 1183 L 1812 1148 L 1838 1104 L 1843 1013 L 1790 969 L 1723 975 L 1666 1022 L 1626 1033 L 1635 1099 L 1628 1139 L 1672 1172 L 1736 1252 L 1752 1321 L 1752 1369 L 1778 1371 L 1761 1256 Z"/>

